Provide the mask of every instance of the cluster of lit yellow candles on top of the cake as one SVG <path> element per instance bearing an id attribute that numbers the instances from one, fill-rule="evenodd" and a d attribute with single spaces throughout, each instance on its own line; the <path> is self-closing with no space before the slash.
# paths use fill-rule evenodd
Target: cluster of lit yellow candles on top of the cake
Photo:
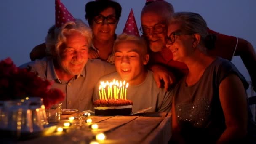
<path id="1" fill-rule="evenodd" d="M 126 86 L 125 86 L 126 84 Z M 99 99 L 125 99 L 127 95 L 128 83 L 125 81 L 113 80 L 112 82 L 101 81 L 99 85 Z M 100 91 L 101 90 L 101 91 Z M 106 93 L 107 91 L 107 93 Z"/>

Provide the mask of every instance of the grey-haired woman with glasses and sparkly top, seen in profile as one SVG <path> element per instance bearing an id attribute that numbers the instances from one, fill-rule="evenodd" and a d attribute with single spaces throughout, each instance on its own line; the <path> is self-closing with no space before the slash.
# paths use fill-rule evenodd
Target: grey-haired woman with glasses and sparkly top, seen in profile
<path id="1" fill-rule="evenodd" d="M 248 84 L 230 61 L 206 53 L 215 40 L 197 13 L 174 13 L 169 21 L 166 46 L 189 70 L 173 90 L 172 141 L 255 144 Z"/>

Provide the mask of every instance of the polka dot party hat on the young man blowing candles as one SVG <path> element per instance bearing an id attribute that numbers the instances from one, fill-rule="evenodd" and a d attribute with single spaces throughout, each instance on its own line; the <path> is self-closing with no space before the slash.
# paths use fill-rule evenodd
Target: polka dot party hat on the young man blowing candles
<path id="1" fill-rule="evenodd" d="M 123 29 L 123 33 L 129 34 L 129 35 L 136 35 L 139 37 L 139 30 L 135 21 L 133 9 L 131 9 L 130 11 L 128 19 L 125 23 L 125 27 Z"/>

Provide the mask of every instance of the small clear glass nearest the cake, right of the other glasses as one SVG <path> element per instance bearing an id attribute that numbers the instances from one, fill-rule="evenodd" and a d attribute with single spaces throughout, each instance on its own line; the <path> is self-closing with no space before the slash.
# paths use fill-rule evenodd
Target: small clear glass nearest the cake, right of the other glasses
<path id="1" fill-rule="evenodd" d="M 46 109 L 48 122 L 59 122 L 61 120 L 62 103 L 54 104 L 50 109 Z"/>

